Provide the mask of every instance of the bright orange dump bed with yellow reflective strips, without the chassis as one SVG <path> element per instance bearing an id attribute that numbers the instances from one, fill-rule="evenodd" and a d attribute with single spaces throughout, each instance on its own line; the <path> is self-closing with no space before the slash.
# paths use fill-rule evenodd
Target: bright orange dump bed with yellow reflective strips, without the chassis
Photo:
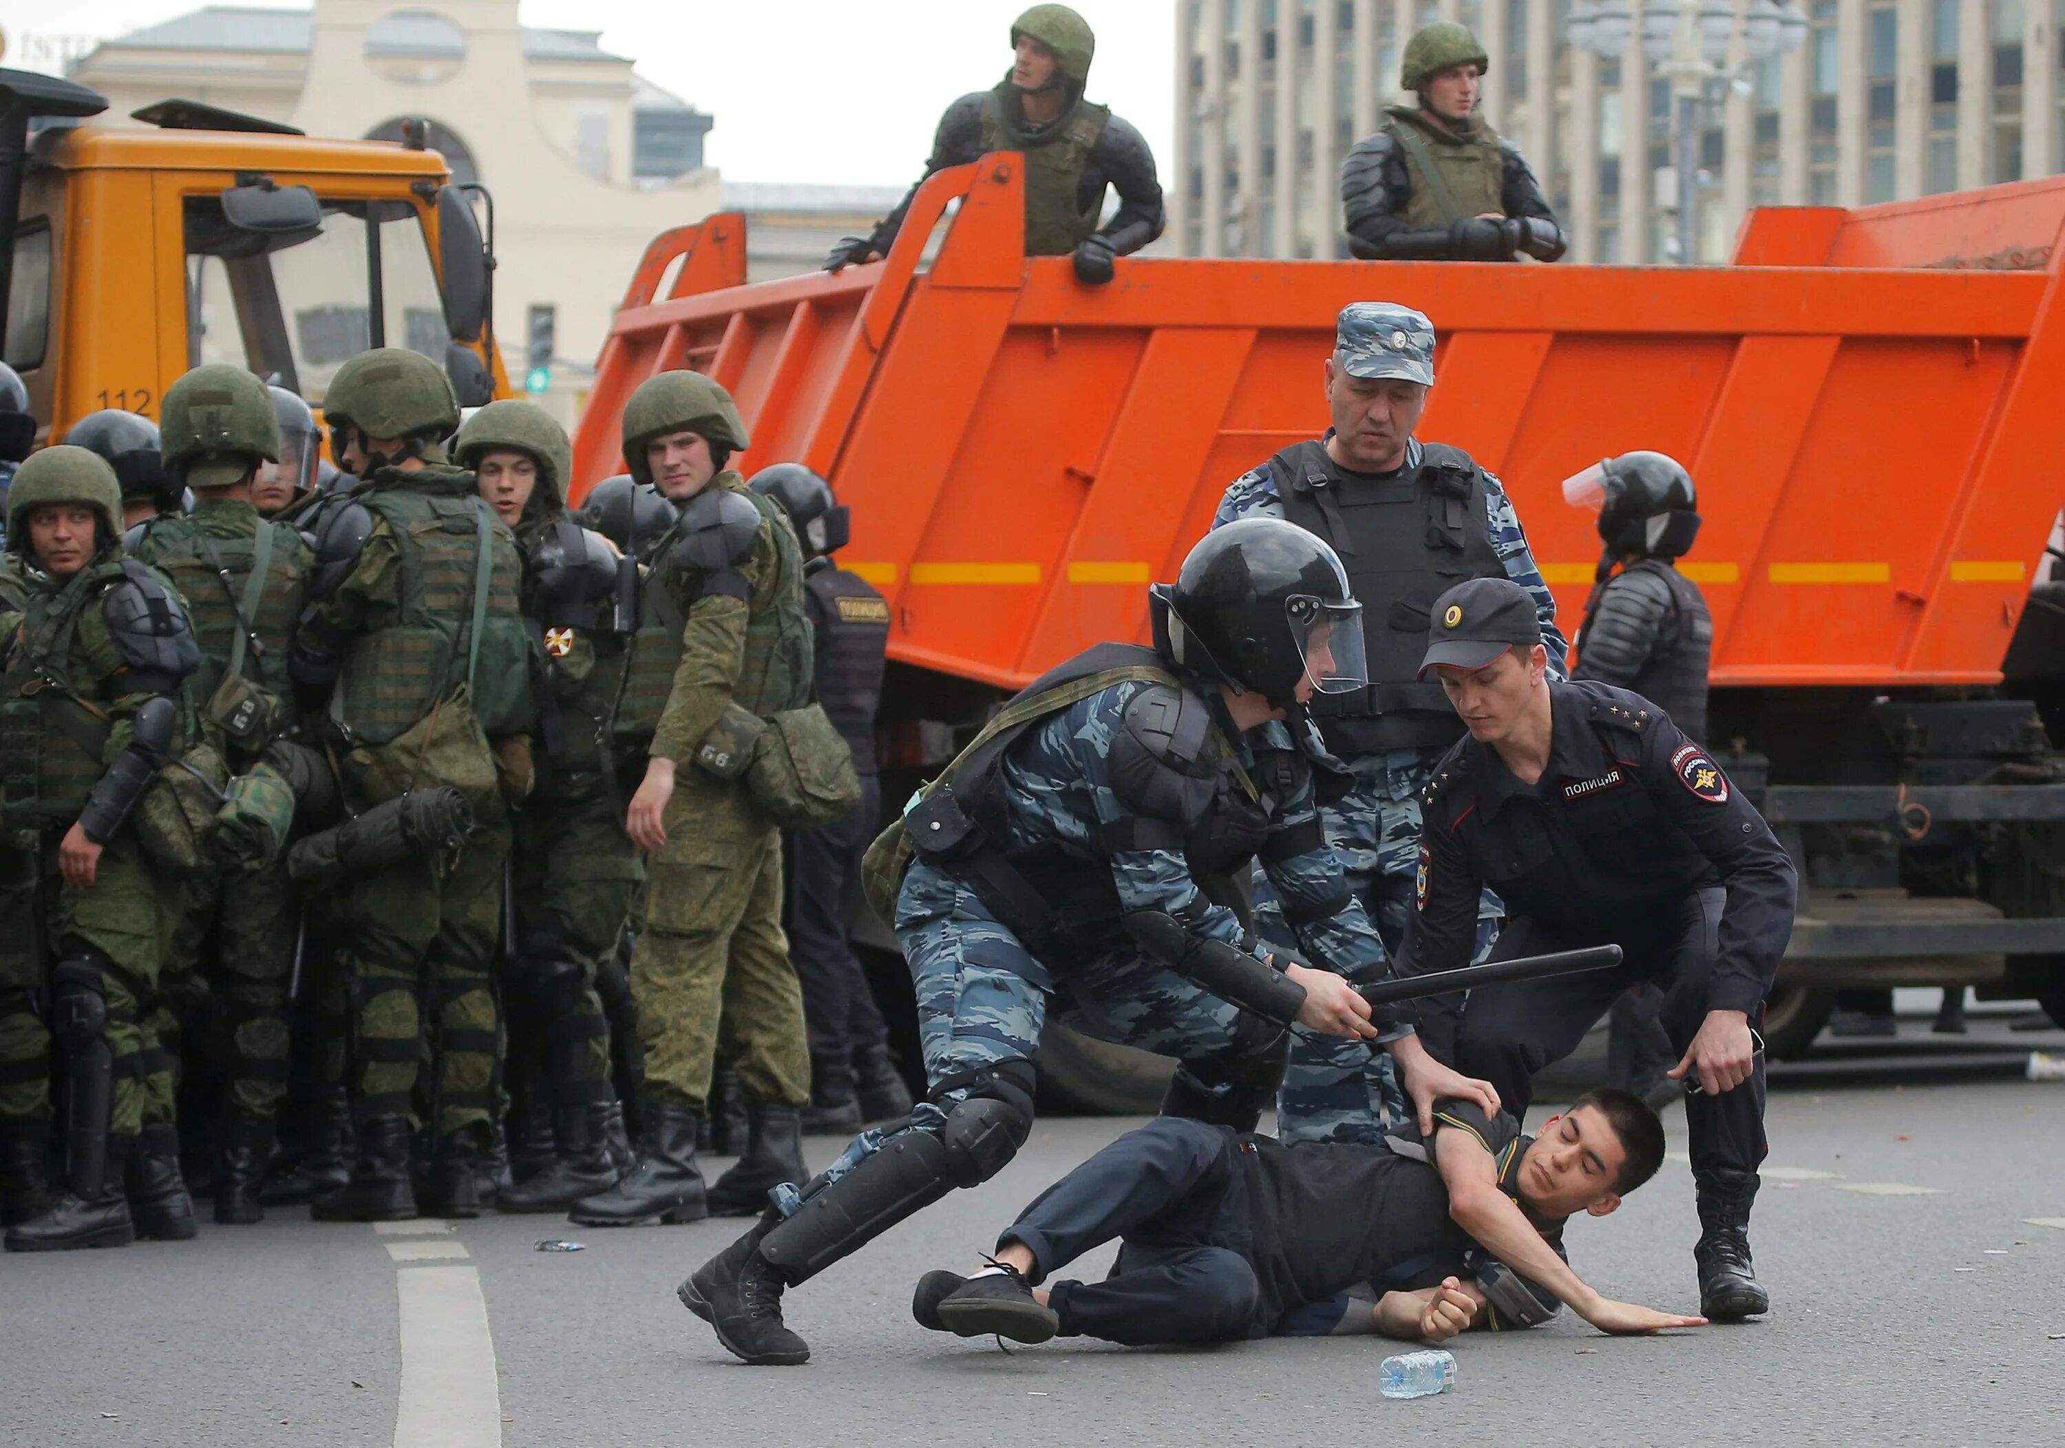
<path id="1" fill-rule="evenodd" d="M 1020 171 L 933 176 L 890 256 L 836 277 L 743 285 L 737 215 L 661 235 L 576 485 L 622 471 L 638 382 L 708 372 L 748 471 L 803 461 L 853 506 L 843 562 L 890 597 L 892 657 L 1016 688 L 1146 638 L 1144 585 L 1227 483 L 1324 430 L 1334 314 L 1392 300 L 1441 339 L 1421 434 L 1505 479 L 1567 630 L 1598 543 L 1559 483 L 1658 448 L 1702 490 L 1716 684 L 2001 678 L 2065 492 L 2065 178 L 1757 211 L 1720 269 L 1132 258 L 1084 287 L 1020 254 Z"/>

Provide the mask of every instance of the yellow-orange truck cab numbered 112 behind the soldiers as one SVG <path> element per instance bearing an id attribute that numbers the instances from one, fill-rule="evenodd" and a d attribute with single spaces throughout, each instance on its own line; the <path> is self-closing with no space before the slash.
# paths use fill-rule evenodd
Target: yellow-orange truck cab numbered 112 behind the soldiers
<path id="1" fill-rule="evenodd" d="M 4 357 L 39 442 L 103 407 L 155 419 L 206 361 L 320 407 L 353 353 L 411 347 L 446 366 L 463 405 L 508 395 L 475 219 L 487 198 L 452 186 L 436 151 L 318 140 L 194 101 L 134 114 L 155 130 L 83 120 L 105 105 L 0 70 Z"/>

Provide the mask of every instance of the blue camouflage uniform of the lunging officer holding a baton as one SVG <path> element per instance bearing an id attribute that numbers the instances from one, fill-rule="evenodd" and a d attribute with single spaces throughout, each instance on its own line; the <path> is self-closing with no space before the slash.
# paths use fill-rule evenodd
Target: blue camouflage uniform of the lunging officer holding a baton
<path id="1" fill-rule="evenodd" d="M 1113 789 L 1111 739 L 1125 727 L 1125 704 L 1142 688 L 1150 686 L 1125 682 L 1090 694 L 1037 723 L 1002 760 L 995 785 L 1004 804 L 999 847 L 1014 855 L 1051 849 L 1072 861 L 1103 863 L 1117 894 L 1115 901 L 1059 903 L 1063 923 L 1041 952 L 1045 958 L 997 921 L 968 884 L 925 861 L 911 865 L 896 901 L 896 938 L 917 987 L 919 1039 L 933 1097 L 917 1105 L 909 1126 L 898 1122 L 857 1136 L 820 1182 L 851 1171 L 886 1136 L 940 1132 L 946 1113 L 966 1095 L 942 1091 L 942 1082 L 1006 1060 L 1032 1060 L 1047 1002 L 1055 994 L 1082 1012 L 1080 1029 L 1107 1041 L 1185 1062 L 1239 1047 L 1241 1010 L 1146 954 L 1121 925 L 1123 913 L 1165 911 L 1196 936 L 1243 944 L 1258 958 L 1270 954 L 1270 944 L 1243 932 L 1231 907 L 1206 896 L 1179 851 L 1107 845 L 1113 828 L 1132 814 Z M 1233 748 L 1241 764 L 1251 766 L 1258 748 L 1295 746 L 1286 725 L 1270 723 L 1235 737 Z M 1270 841 L 1291 839 L 1301 826 L 1311 830 L 1317 804 L 1309 777 L 1297 793 L 1272 804 Z M 1311 963 L 1351 979 L 1381 977 L 1386 956 L 1361 903 L 1346 890 L 1334 851 L 1317 845 L 1280 859 L 1270 859 L 1272 853 L 1282 851 L 1264 845 L 1262 874 L 1276 899 L 1289 899 L 1295 915 L 1313 915 L 1299 932 L 1284 930 L 1284 940 L 1295 940 Z M 1388 1027 L 1379 1041 L 1406 1031 Z M 1369 1041 L 1342 1045 L 1353 1056 L 1384 1056 Z M 793 1215 L 801 1200 L 795 1188 L 776 1190 L 785 1213 Z"/>

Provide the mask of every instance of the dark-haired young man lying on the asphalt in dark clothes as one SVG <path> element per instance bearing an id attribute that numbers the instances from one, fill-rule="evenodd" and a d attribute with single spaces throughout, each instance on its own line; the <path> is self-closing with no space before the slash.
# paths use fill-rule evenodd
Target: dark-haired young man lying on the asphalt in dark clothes
<path id="1" fill-rule="evenodd" d="M 1532 1138 L 1503 1111 L 1487 1120 L 1446 1099 L 1431 1142 L 1406 1126 L 1381 1146 L 1284 1146 L 1165 1115 L 1047 1188 L 991 1266 L 927 1272 L 911 1312 L 960 1336 L 1127 1345 L 1355 1330 L 1439 1341 L 1532 1326 L 1555 1301 L 1607 1332 L 1702 1326 L 1602 1297 L 1557 1246 L 1567 1217 L 1607 1217 L 1662 1157 L 1656 1113 L 1625 1091 L 1586 1093 Z M 1111 1277 L 1041 1287 L 1113 1237 Z M 1351 1289 L 1367 1293 L 1361 1308 L 1342 1299 Z"/>

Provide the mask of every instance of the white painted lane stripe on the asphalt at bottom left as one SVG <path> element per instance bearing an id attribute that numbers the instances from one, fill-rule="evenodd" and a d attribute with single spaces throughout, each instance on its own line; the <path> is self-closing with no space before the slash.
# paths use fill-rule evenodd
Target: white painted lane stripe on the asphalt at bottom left
<path id="1" fill-rule="evenodd" d="M 394 1448 L 502 1448 L 496 1345 L 471 1266 L 396 1272 L 401 1394 Z"/>

